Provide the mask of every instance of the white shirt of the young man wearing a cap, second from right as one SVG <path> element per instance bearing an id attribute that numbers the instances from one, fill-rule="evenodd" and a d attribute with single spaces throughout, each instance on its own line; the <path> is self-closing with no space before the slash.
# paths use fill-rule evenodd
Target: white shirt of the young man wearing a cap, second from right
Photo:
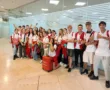
<path id="1" fill-rule="evenodd" d="M 84 39 L 86 40 L 86 42 L 88 42 L 88 40 L 89 40 L 89 38 L 90 38 L 90 35 L 91 35 L 91 33 L 86 33 L 85 35 L 84 35 Z M 96 50 L 96 46 L 95 45 L 88 45 L 87 47 L 86 47 L 86 52 L 95 52 L 95 50 Z"/>

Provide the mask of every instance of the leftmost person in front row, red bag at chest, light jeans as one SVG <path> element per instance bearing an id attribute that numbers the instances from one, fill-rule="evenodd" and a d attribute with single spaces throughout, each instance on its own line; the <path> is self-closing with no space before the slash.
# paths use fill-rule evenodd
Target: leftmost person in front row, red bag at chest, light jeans
<path id="1" fill-rule="evenodd" d="M 16 58 L 18 58 L 17 56 L 17 51 L 18 51 L 18 45 L 19 45 L 19 34 L 18 34 L 18 30 L 15 29 L 14 34 L 12 35 L 12 44 L 13 44 L 13 60 L 15 60 Z"/>

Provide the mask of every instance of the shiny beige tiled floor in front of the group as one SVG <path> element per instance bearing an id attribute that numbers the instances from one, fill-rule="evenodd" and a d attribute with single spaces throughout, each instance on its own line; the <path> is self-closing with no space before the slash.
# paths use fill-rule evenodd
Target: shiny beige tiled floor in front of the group
<path id="1" fill-rule="evenodd" d="M 50 73 L 42 70 L 39 61 L 12 60 L 9 41 L 0 39 L 0 90 L 110 90 L 104 86 L 104 77 L 91 81 L 77 69 L 67 73 L 61 67 Z"/>

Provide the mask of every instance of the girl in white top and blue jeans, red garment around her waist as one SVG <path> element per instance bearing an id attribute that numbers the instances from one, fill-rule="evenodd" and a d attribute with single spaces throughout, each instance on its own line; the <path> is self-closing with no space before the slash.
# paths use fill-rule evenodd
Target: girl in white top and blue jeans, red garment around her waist
<path id="1" fill-rule="evenodd" d="M 34 30 L 34 35 L 32 37 L 32 56 L 34 60 L 37 60 L 37 41 L 38 41 L 38 36 L 37 36 L 37 31 Z"/>

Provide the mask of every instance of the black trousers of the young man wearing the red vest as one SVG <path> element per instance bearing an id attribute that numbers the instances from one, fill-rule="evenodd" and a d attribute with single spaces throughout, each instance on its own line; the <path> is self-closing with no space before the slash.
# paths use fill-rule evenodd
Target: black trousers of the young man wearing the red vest
<path id="1" fill-rule="evenodd" d="M 75 66 L 78 66 L 78 57 L 80 57 L 80 67 L 83 68 L 83 50 L 75 49 Z"/>

